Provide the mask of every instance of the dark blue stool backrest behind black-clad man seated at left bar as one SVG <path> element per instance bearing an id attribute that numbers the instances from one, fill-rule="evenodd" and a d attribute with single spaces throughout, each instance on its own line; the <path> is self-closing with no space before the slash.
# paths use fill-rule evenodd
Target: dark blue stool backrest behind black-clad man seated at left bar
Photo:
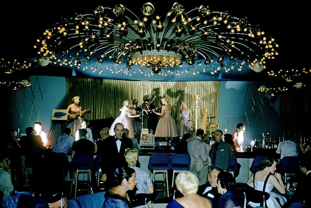
<path id="1" fill-rule="evenodd" d="M 73 170 L 91 170 L 94 169 L 93 153 L 75 153 L 72 159 Z"/>

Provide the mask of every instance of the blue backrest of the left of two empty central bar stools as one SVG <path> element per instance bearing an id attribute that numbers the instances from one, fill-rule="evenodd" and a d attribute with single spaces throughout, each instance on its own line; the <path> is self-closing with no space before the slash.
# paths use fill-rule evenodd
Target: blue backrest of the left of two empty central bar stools
<path id="1" fill-rule="evenodd" d="M 150 155 L 149 170 L 169 170 L 169 153 L 153 153 Z"/>

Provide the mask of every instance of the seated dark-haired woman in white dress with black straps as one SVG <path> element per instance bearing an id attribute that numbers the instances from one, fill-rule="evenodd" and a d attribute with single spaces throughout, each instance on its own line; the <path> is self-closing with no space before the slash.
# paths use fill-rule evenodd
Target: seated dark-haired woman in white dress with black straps
<path id="1" fill-rule="evenodd" d="M 270 197 L 266 200 L 266 205 L 268 208 L 281 208 L 281 205 L 283 205 L 286 202 L 286 198 L 281 196 L 280 194 L 276 194 L 272 192 L 273 187 L 275 187 L 281 194 L 285 193 L 285 186 L 282 181 L 282 176 L 280 173 L 275 172 L 276 171 L 276 164 L 277 159 L 273 157 L 266 157 L 260 164 L 259 164 L 259 170 L 255 173 L 255 179 L 252 173 L 251 177 L 247 180 L 247 185 L 249 185 L 252 188 L 255 188 L 255 190 L 262 191 L 264 186 L 264 181 L 268 175 L 269 178 L 267 180 L 265 192 L 270 193 Z M 218 175 L 219 177 L 219 175 Z M 254 187 L 255 186 L 255 187 Z M 275 197 L 278 197 L 278 201 Z M 248 202 L 248 205 L 251 207 L 257 207 L 260 206 L 259 203 L 253 203 L 251 201 Z"/>

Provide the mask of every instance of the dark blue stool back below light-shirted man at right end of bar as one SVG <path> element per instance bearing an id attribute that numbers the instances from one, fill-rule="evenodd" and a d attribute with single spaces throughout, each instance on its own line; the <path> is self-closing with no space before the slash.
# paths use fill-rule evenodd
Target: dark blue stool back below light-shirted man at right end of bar
<path id="1" fill-rule="evenodd" d="M 279 173 L 298 173 L 299 170 L 298 156 L 285 156 L 280 160 Z"/>

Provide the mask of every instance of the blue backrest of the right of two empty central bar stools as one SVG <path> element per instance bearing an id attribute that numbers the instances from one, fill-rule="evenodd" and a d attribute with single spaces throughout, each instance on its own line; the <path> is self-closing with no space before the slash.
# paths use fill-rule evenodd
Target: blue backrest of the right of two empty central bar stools
<path id="1" fill-rule="evenodd" d="M 188 154 L 171 154 L 170 170 L 190 170 L 190 156 Z"/>

